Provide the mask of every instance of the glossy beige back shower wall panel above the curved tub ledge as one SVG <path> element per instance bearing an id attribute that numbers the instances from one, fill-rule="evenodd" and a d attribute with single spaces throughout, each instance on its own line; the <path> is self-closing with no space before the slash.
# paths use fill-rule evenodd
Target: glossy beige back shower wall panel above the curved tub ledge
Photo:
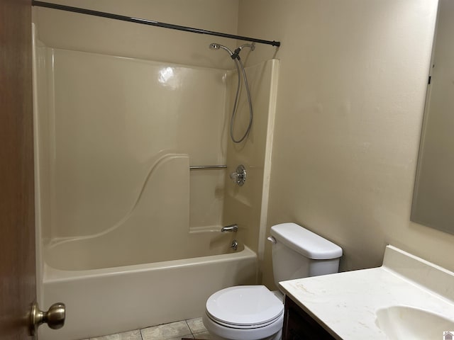
<path id="1" fill-rule="evenodd" d="M 187 154 L 191 165 L 226 162 L 224 71 L 45 47 L 40 51 L 45 57 L 38 77 L 46 86 L 38 89 L 38 98 L 48 98 L 41 100 L 38 118 L 43 132 L 40 168 L 47 170 L 41 171 L 40 181 L 48 184 L 40 198 L 50 203 L 51 227 L 43 228 L 50 234 L 45 237 L 84 237 L 118 224 L 167 154 Z M 184 171 L 189 174 L 186 166 Z M 182 221 L 190 217 L 185 229 L 189 224 L 220 225 L 224 172 L 191 171 L 190 212 L 168 213 L 186 215 Z M 166 175 L 168 190 L 187 196 L 189 204 L 180 181 Z"/>

